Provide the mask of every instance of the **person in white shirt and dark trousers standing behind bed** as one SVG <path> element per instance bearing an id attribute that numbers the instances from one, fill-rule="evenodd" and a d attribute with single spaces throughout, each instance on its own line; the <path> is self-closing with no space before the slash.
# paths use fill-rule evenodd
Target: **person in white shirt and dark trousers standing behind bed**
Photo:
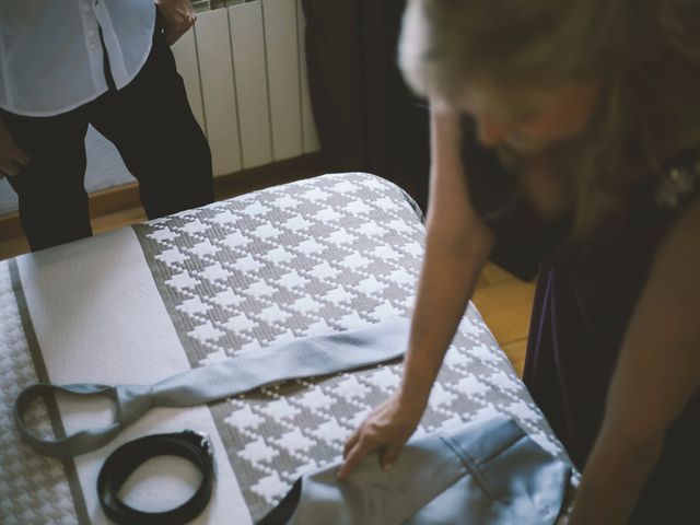
<path id="1" fill-rule="evenodd" d="M 33 250 L 92 234 L 89 125 L 117 147 L 150 219 L 213 200 L 168 47 L 195 20 L 189 0 L 0 0 L 0 177 Z"/>

